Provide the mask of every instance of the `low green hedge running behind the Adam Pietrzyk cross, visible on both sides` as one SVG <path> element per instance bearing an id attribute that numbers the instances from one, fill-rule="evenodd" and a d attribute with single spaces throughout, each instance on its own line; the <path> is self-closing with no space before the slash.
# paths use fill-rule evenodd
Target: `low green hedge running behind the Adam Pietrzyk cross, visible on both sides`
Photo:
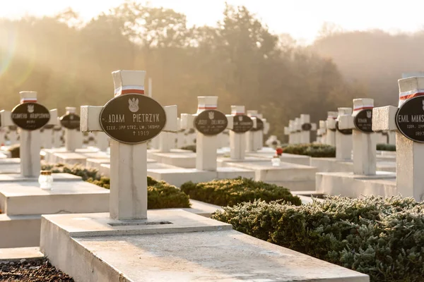
<path id="1" fill-rule="evenodd" d="M 45 165 L 42 170 L 52 173 L 70 173 L 81 176 L 84 181 L 93 183 L 102 188 L 110 189 L 110 178 L 101 176 L 95 168 L 86 168 L 79 165 L 66 166 L 64 164 Z M 158 181 L 147 177 L 147 206 L 148 209 L 168 209 L 190 207 L 190 198 L 187 194 L 165 181 Z"/>

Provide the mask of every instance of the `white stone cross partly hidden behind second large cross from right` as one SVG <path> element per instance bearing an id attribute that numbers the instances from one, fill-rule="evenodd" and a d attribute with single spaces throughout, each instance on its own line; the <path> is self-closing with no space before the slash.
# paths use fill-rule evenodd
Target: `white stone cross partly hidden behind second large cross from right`
<path id="1" fill-rule="evenodd" d="M 340 121 L 343 116 L 351 116 L 352 108 L 338 108 L 338 116 L 336 123 Z M 350 161 L 352 159 L 352 135 L 343 134 L 336 127 L 336 160 L 338 161 Z"/>

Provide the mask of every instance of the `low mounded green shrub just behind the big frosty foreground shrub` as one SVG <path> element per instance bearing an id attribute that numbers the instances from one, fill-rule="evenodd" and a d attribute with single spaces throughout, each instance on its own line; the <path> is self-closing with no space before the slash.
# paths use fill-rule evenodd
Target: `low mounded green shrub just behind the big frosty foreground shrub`
<path id="1" fill-rule="evenodd" d="M 233 206 L 258 199 L 266 202 L 284 200 L 291 204 L 302 204 L 300 198 L 293 196 L 286 188 L 248 178 L 213 180 L 204 183 L 189 181 L 181 185 L 180 189 L 191 199 L 219 206 Z"/>

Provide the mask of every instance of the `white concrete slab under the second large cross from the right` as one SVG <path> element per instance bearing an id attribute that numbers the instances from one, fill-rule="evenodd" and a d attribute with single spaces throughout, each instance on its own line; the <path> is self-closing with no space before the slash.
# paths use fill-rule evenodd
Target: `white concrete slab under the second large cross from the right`
<path id="1" fill-rule="evenodd" d="M 375 176 L 358 176 L 343 172 L 317 173 L 316 182 L 317 192 L 324 195 L 344 197 L 397 195 L 396 173 L 386 171 L 377 171 Z"/>

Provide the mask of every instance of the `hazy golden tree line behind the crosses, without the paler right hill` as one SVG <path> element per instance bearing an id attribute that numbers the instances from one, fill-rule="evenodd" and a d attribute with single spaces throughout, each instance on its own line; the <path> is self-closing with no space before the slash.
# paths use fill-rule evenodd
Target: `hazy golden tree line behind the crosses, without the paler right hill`
<path id="1" fill-rule="evenodd" d="M 153 97 L 196 111 L 197 96 L 218 96 L 257 109 L 281 139 L 288 120 L 351 106 L 366 97 L 334 61 L 310 47 L 272 34 L 244 6 L 226 5 L 216 26 L 187 27 L 186 16 L 133 1 L 88 23 L 72 10 L 57 16 L 0 20 L 0 109 L 18 104 L 18 92 L 38 92 L 39 102 L 64 114 L 65 106 L 103 105 L 113 95 L 112 71 L 145 70 Z M 147 89 L 147 80 L 146 80 Z"/>

